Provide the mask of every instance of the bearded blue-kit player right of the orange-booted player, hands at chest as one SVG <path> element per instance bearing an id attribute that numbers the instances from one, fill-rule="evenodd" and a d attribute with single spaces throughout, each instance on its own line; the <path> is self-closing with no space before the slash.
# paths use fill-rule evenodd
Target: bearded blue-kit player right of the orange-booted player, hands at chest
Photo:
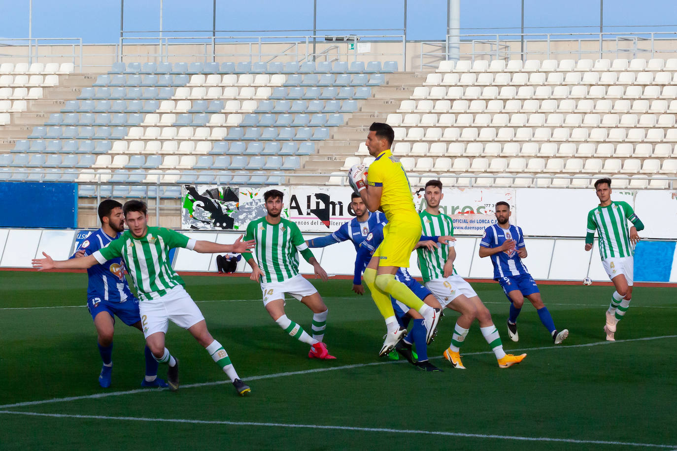
<path id="1" fill-rule="evenodd" d="M 533 281 L 527 266 L 522 262 L 522 259 L 527 257 L 524 233 L 521 227 L 510 224 L 512 214 L 510 205 L 503 201 L 496 203 L 495 214 L 498 224 L 485 229 L 484 236 L 479 242 L 479 256 L 491 257 L 492 264 L 494 264 L 494 280 L 500 283 L 510 301 L 508 336 L 512 341 L 519 341 L 517 316 L 522 310 L 526 297 L 536 307 L 538 317 L 550 332 L 552 341 L 555 344 L 561 343 L 569 336 L 569 331 L 563 329 L 557 332 L 552 316 L 543 304 L 538 285 Z"/>

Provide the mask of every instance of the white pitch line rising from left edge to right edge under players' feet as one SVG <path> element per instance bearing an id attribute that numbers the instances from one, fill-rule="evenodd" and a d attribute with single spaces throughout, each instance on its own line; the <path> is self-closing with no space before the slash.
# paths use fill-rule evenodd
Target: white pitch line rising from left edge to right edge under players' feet
<path id="1" fill-rule="evenodd" d="M 538 348 L 523 348 L 523 349 L 517 349 L 517 350 L 511 350 L 511 351 L 538 351 L 538 350 L 563 350 L 563 349 L 569 349 L 569 348 L 586 348 L 589 346 L 613 346 L 615 343 L 629 343 L 632 341 L 649 341 L 649 340 L 657 340 L 657 339 L 665 339 L 665 338 L 677 338 L 677 335 L 661 335 L 659 337 L 642 337 L 642 338 L 631 338 L 631 339 L 624 339 L 624 340 L 616 340 L 616 341 L 594 341 L 592 343 L 582 343 L 582 344 L 577 344 L 577 345 L 570 345 L 570 346 L 540 346 Z M 478 356 L 482 354 L 494 354 L 493 351 L 480 351 L 480 352 L 468 352 L 466 354 L 463 354 L 464 356 Z M 433 359 L 438 359 L 442 358 L 441 356 L 437 357 L 431 357 L 431 360 Z M 365 366 L 376 366 L 376 365 L 384 365 L 384 364 L 397 364 L 397 363 L 405 363 L 406 360 L 386 360 L 383 362 L 370 362 L 370 363 L 355 363 L 355 364 L 350 364 L 350 365 L 341 365 L 341 366 L 330 366 L 328 368 L 315 368 L 315 369 L 310 369 L 310 370 L 301 370 L 301 371 L 286 371 L 284 373 L 272 373 L 272 374 L 267 374 L 267 375 L 259 375 L 259 376 L 252 376 L 252 377 L 246 377 L 243 379 L 244 381 L 258 381 L 261 379 L 275 379 L 277 377 L 285 377 L 285 376 L 296 376 L 296 375 L 305 375 L 305 374 L 311 374 L 311 373 L 325 373 L 326 371 L 339 371 L 339 370 L 345 370 L 345 369 L 353 369 L 353 368 L 364 368 Z M 211 385 L 222 385 L 224 383 L 230 383 L 230 381 L 213 381 L 213 382 L 201 382 L 201 383 L 191 383 L 191 384 L 186 384 L 186 385 L 181 385 L 181 389 L 186 389 L 186 388 L 194 388 L 194 387 L 209 387 Z M 52 398 L 50 400 L 39 400 L 39 401 L 25 401 L 25 402 L 17 402 L 14 404 L 3 404 L 0 406 L 0 409 L 3 408 L 11 408 L 11 407 L 25 407 L 25 406 L 37 406 L 40 404 L 52 404 L 55 402 L 68 402 L 68 401 L 77 401 L 77 400 L 86 400 L 86 399 L 97 399 L 97 398 L 107 398 L 108 396 L 122 396 L 122 395 L 130 395 L 130 394 L 136 394 L 136 393 L 148 393 L 149 390 L 147 388 L 137 388 L 133 390 L 125 390 L 125 391 L 106 391 L 103 393 L 97 393 L 93 395 L 81 395 L 81 396 L 68 396 L 66 398 Z"/>

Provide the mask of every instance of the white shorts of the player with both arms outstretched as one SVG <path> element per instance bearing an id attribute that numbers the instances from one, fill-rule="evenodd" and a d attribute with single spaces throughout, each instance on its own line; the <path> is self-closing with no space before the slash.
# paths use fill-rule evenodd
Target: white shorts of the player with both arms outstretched
<path id="1" fill-rule="evenodd" d="M 188 329 L 204 320 L 202 312 L 181 285 L 169 290 L 164 296 L 139 302 L 141 327 L 144 337 L 156 332 L 167 333 L 169 321 Z"/>

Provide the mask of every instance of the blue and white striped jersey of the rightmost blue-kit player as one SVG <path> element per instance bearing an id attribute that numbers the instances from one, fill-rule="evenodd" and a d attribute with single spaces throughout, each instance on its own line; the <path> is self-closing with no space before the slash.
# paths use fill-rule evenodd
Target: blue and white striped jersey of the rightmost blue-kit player
<path id="1" fill-rule="evenodd" d="M 515 240 L 515 248 L 498 252 L 490 256 L 492 264 L 494 264 L 494 279 L 502 279 L 503 277 L 519 276 L 529 274 L 527 266 L 522 262 L 522 259 L 517 255 L 517 249 L 525 247 L 524 233 L 521 227 L 510 225 L 508 229 L 503 229 L 498 224 L 487 227 L 484 231 L 479 245 L 482 247 L 500 247 L 506 239 Z"/>

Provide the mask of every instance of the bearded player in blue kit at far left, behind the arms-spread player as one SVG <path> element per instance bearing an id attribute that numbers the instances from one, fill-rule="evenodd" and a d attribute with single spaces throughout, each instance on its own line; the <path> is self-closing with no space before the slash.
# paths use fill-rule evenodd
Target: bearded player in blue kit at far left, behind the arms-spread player
<path id="1" fill-rule="evenodd" d="M 125 231 L 123 204 L 113 199 L 106 199 L 99 204 L 101 229 L 87 236 L 77 252 L 71 258 L 89 256 L 106 247 L 108 243 L 120 237 Z M 131 293 L 129 283 L 125 279 L 125 263 L 122 258 L 114 258 L 102 264 L 87 268 L 87 310 L 91 314 L 96 328 L 99 354 L 103 362 L 99 375 L 99 385 L 110 387 L 113 370 L 113 332 L 115 318 L 128 326 L 141 329 L 139 300 Z M 146 377 L 141 387 L 167 387 L 167 383 L 158 379 L 158 362 L 153 358 L 146 346 Z"/>

